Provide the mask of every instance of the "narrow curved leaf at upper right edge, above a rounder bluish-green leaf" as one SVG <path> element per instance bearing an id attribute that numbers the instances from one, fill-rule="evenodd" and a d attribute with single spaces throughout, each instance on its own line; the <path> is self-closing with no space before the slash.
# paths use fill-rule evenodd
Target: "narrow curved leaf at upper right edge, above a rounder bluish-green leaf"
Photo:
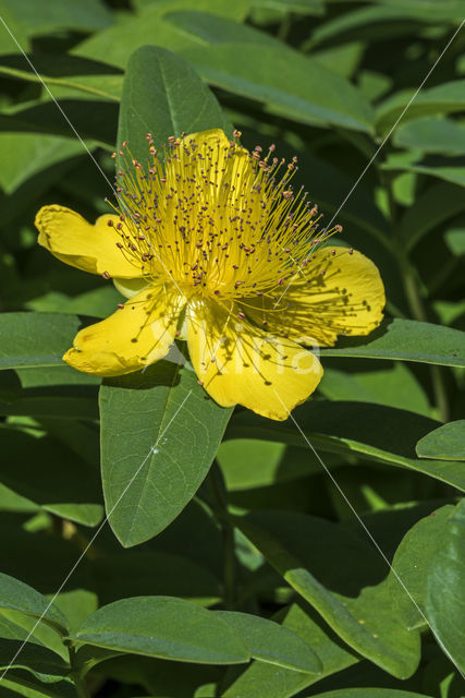
<path id="1" fill-rule="evenodd" d="M 465 81 L 455 80 L 437 87 L 421 89 L 415 97 L 404 116 L 402 124 L 420 117 L 431 115 L 452 113 L 465 108 Z M 377 130 L 387 133 L 401 116 L 415 92 L 412 89 L 399 92 L 388 97 L 377 109 Z"/>

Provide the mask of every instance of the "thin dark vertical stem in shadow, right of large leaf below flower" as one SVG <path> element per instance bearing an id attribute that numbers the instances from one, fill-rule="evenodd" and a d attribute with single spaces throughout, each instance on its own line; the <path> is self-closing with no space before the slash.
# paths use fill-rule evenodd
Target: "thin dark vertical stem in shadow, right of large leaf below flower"
<path id="1" fill-rule="evenodd" d="M 228 512 L 228 490 L 216 461 L 207 476 L 207 482 L 212 496 L 212 509 L 221 528 L 223 540 L 223 583 L 224 583 L 224 606 L 227 611 L 232 611 L 235 606 L 235 579 L 236 561 L 234 553 L 234 526 L 231 524 Z"/>

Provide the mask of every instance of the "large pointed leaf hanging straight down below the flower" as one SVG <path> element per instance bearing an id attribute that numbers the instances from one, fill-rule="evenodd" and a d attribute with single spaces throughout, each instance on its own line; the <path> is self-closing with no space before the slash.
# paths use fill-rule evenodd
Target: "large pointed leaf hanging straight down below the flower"
<path id="1" fill-rule="evenodd" d="M 124 546 L 152 538 L 182 512 L 208 472 L 231 412 L 207 396 L 194 371 L 168 361 L 103 383 L 103 494 Z"/>

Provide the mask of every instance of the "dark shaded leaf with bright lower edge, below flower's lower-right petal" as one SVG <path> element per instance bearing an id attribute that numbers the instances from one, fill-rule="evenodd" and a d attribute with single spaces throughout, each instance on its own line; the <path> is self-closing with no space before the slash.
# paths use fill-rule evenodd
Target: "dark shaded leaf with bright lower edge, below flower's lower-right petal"
<path id="1" fill-rule="evenodd" d="M 461 462 L 415 457 L 417 441 L 438 424 L 431 419 L 381 405 L 323 400 L 301 405 L 293 416 L 295 422 L 287 419 L 271 425 L 257 414 L 237 413 L 227 437 L 262 438 L 309 448 L 305 434 L 317 449 L 345 456 L 357 454 L 368 460 L 423 472 L 462 491 L 465 489 Z"/>

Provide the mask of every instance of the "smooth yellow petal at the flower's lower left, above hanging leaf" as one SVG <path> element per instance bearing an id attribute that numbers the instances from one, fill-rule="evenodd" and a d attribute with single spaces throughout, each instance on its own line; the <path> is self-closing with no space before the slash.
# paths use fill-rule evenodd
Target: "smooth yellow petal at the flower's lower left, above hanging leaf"
<path id="1" fill-rule="evenodd" d="M 63 359 L 94 375 L 138 371 L 167 356 L 184 302 L 176 289 L 150 286 L 107 320 L 77 333 Z"/>

